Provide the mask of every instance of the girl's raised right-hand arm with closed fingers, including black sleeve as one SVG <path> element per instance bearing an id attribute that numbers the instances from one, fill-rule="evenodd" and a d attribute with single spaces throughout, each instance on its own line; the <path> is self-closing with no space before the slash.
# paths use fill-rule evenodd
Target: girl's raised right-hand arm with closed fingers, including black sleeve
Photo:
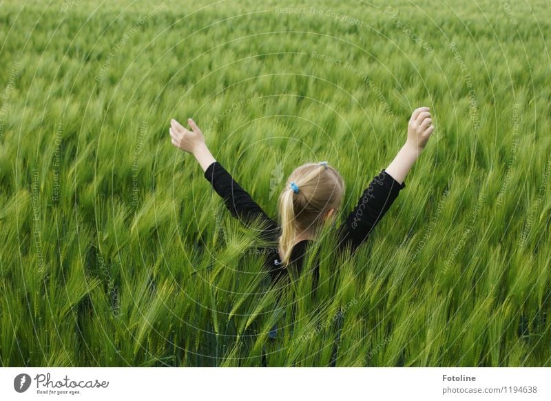
<path id="1" fill-rule="evenodd" d="M 404 178 L 434 131 L 428 110 L 428 107 L 419 107 L 411 115 L 405 145 L 392 163 L 373 178 L 342 225 L 342 245 L 350 244 L 352 249 L 361 245 L 406 187 Z"/>

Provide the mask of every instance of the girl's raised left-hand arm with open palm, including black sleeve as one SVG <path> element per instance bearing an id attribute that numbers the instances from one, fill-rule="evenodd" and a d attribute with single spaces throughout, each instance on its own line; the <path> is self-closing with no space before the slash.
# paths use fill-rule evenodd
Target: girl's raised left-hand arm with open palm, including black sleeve
<path id="1" fill-rule="evenodd" d="M 212 156 L 205 144 L 201 130 L 192 119 L 187 122 L 192 131 L 186 130 L 178 121 L 171 120 L 170 136 L 172 144 L 185 152 L 194 155 L 200 164 L 205 178 L 214 187 L 214 190 L 224 200 L 224 203 L 233 217 L 243 222 L 250 222 L 256 218 L 267 223 L 267 229 L 275 230 L 276 223 L 271 220 L 264 210 L 242 189 L 231 177 L 229 172 Z"/>

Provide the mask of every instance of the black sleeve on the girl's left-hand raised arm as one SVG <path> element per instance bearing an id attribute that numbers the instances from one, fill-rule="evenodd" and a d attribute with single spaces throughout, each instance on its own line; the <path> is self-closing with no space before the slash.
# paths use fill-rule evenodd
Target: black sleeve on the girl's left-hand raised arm
<path id="1" fill-rule="evenodd" d="M 235 218 L 243 223 L 260 218 L 267 223 L 267 229 L 273 233 L 276 229 L 275 221 L 264 213 L 264 210 L 233 180 L 229 172 L 218 161 L 215 161 L 205 170 L 205 178 L 214 187 L 214 190 L 224 200 L 227 209 Z"/>

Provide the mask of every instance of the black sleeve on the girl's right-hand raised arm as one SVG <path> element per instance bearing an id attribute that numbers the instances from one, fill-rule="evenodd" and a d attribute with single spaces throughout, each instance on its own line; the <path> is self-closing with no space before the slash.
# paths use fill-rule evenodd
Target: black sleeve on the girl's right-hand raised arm
<path id="1" fill-rule="evenodd" d="M 340 227 L 341 245 L 351 245 L 352 250 L 361 245 L 404 187 L 384 169 L 375 176 Z"/>

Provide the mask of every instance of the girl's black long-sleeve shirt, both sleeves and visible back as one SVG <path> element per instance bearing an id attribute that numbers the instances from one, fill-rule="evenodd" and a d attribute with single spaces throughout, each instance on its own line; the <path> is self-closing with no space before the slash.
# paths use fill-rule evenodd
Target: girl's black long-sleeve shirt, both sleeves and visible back
<path id="1" fill-rule="evenodd" d="M 242 189 L 242 187 L 231 177 L 218 161 L 215 161 L 205 170 L 205 178 L 214 187 L 214 190 L 224 200 L 233 217 L 240 218 L 243 222 L 251 220 L 262 220 L 261 238 L 277 243 L 280 235 L 280 227 L 275 220 L 272 220 L 262 208 Z M 393 204 L 400 190 L 404 189 L 405 183 L 399 184 L 383 169 L 378 176 L 373 178 L 369 186 L 364 189 L 360 200 L 352 212 L 346 217 L 345 222 L 339 228 L 339 245 L 350 246 L 354 251 L 361 245 L 371 233 L 371 230 L 384 216 Z M 306 248 L 311 240 L 302 240 L 295 244 L 291 251 L 291 262 L 300 271 Z M 280 256 L 277 247 L 269 248 L 265 252 L 265 265 L 273 280 L 277 280 L 289 273 L 289 268 L 280 263 Z M 317 273 L 319 274 L 319 272 Z"/>

